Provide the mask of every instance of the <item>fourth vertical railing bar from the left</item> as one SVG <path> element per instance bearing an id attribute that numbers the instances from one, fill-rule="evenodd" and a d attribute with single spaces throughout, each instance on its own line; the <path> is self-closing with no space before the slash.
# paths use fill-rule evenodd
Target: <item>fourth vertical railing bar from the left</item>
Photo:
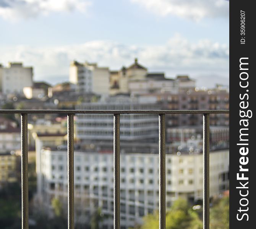
<path id="1" fill-rule="evenodd" d="M 159 229 L 165 229 L 165 114 L 159 114 Z"/>

